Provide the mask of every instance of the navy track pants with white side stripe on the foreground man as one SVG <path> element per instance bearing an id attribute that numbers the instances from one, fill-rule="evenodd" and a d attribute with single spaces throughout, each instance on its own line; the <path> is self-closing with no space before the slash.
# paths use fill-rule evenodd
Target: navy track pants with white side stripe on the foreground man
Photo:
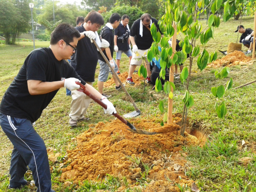
<path id="1" fill-rule="evenodd" d="M 10 187 L 26 184 L 24 174 L 32 171 L 37 192 L 54 192 L 51 189 L 51 174 L 44 140 L 34 130 L 28 119 L 0 113 L 0 125 L 14 145 L 10 166 Z"/>

